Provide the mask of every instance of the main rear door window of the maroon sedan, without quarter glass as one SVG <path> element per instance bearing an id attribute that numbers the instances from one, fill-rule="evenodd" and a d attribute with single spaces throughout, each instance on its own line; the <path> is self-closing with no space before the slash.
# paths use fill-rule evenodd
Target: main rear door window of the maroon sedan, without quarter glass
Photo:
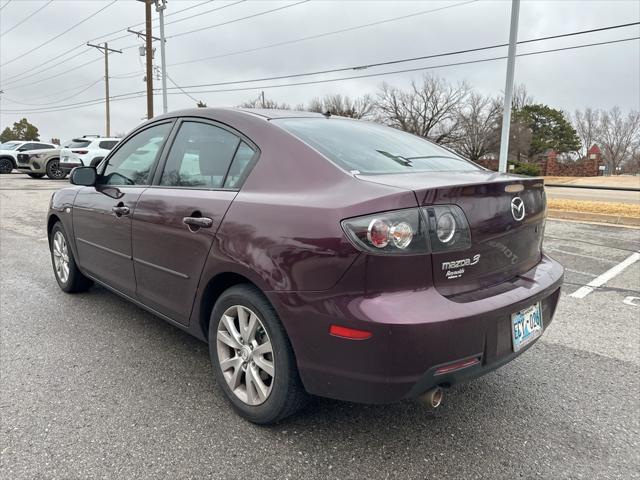
<path id="1" fill-rule="evenodd" d="M 200 122 L 184 122 L 171 146 L 160 185 L 222 188 L 240 139 Z"/>

